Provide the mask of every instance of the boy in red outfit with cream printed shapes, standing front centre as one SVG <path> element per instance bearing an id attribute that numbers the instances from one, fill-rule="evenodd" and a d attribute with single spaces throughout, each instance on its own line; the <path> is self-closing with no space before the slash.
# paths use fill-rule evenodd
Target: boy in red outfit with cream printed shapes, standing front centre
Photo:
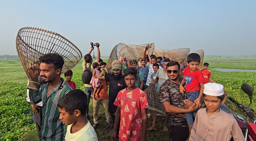
<path id="1" fill-rule="evenodd" d="M 114 104 L 117 106 L 115 127 L 112 140 L 116 140 L 118 124 L 120 124 L 119 141 L 146 141 L 147 103 L 146 93 L 136 87 L 137 69 L 129 67 L 124 71 L 127 88 L 117 94 Z M 119 121 L 121 122 L 119 123 Z M 141 135 L 142 127 L 142 136 Z"/>

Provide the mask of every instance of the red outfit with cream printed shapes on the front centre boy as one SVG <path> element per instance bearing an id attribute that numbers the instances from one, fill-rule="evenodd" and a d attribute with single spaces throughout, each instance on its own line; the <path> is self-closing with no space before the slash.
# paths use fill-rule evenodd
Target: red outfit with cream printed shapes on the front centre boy
<path id="1" fill-rule="evenodd" d="M 142 125 L 141 109 L 149 108 L 146 93 L 138 87 L 133 91 L 127 91 L 125 88 L 117 94 L 114 104 L 121 107 L 119 140 L 139 141 Z"/>

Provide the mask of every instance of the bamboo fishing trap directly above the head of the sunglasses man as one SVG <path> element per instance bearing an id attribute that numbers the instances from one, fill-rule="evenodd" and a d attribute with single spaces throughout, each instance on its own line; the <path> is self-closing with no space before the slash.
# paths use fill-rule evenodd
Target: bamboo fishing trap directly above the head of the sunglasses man
<path id="1" fill-rule="evenodd" d="M 177 61 L 181 65 L 182 62 L 186 59 L 189 52 L 190 52 L 189 48 L 180 48 L 180 49 L 169 50 L 166 53 L 169 59 L 173 61 Z"/>

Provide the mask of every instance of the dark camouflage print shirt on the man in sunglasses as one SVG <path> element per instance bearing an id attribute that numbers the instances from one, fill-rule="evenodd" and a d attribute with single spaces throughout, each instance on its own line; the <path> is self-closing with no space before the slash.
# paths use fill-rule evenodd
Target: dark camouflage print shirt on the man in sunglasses
<path id="1" fill-rule="evenodd" d="M 160 102 L 170 102 L 171 105 L 179 108 L 185 108 L 184 100 L 185 95 L 180 93 L 180 81 L 178 83 L 171 82 L 167 79 L 160 87 Z M 170 113 L 169 126 L 187 127 L 187 120 L 184 113 L 175 114 Z"/>

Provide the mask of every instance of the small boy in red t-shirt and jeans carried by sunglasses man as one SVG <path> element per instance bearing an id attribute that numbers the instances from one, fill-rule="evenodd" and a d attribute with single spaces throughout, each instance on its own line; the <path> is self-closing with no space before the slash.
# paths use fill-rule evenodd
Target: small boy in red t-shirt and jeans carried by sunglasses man
<path id="1" fill-rule="evenodd" d="M 180 92 L 182 94 L 187 94 L 187 99 L 191 100 L 201 106 L 200 99 L 203 96 L 204 90 L 204 76 L 198 70 L 200 64 L 200 56 L 196 53 L 191 53 L 187 56 L 187 66 L 183 72 L 183 79 L 180 83 Z M 184 84 L 185 88 L 184 88 Z M 194 116 L 197 111 L 186 113 L 187 124 L 189 129 L 189 136 L 191 133 L 191 129 L 194 124 Z M 188 139 L 189 139 L 188 136 Z"/>

